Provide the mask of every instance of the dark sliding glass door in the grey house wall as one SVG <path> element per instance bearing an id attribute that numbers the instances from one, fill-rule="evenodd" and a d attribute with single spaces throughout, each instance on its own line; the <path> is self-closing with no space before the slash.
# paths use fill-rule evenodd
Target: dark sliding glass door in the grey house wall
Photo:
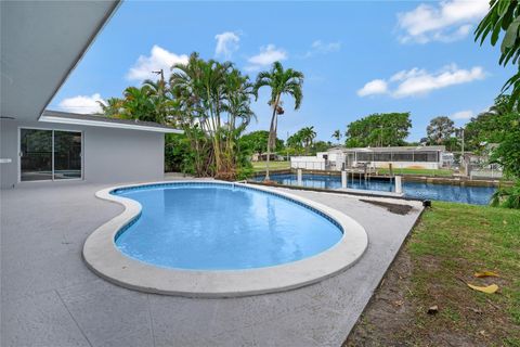
<path id="1" fill-rule="evenodd" d="M 20 130 L 21 181 L 81 179 L 81 132 Z"/>

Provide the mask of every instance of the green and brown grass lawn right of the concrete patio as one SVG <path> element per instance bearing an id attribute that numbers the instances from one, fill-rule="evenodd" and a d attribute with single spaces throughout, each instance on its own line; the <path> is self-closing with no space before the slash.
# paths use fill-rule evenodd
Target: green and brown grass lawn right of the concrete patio
<path id="1" fill-rule="evenodd" d="M 434 202 L 346 342 L 360 345 L 520 346 L 520 210 Z"/>

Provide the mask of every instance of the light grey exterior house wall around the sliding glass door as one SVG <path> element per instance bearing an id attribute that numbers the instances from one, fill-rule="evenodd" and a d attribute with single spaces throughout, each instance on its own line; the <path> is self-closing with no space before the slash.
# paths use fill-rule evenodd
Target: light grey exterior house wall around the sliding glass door
<path id="1" fill-rule="evenodd" d="M 83 180 L 88 182 L 113 183 L 164 178 L 165 134 L 161 132 L 2 119 L 0 157 L 12 159 L 10 164 L 0 164 L 2 188 L 37 184 L 18 182 L 21 127 L 82 131 Z M 60 182 L 56 181 L 55 184 Z"/>

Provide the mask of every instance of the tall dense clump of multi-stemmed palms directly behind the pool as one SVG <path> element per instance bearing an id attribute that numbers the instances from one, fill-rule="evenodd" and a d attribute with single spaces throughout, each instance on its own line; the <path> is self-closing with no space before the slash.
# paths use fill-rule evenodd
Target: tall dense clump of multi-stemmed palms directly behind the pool
<path id="1" fill-rule="evenodd" d="M 173 66 L 170 88 L 183 128 L 198 126 L 211 143 L 214 177 L 235 179 L 237 139 L 255 116 L 250 108 L 249 78 L 229 62 L 204 61 L 192 53 L 186 64 Z M 190 131 L 186 134 L 192 136 Z M 199 143 L 194 144 L 199 151 Z"/>

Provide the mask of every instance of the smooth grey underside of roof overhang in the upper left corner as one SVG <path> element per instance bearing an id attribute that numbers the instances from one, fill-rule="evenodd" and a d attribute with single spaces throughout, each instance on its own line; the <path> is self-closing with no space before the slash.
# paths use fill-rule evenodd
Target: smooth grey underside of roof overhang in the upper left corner
<path id="1" fill-rule="evenodd" d="M 0 2 L 0 116 L 36 120 L 119 0 Z"/>

